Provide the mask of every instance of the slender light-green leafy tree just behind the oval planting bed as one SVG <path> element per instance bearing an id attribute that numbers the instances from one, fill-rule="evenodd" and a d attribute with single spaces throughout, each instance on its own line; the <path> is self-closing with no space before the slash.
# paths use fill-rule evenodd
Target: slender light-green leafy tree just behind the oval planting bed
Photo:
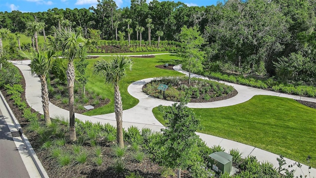
<path id="1" fill-rule="evenodd" d="M 201 45 L 205 44 L 204 39 L 201 37 L 197 26 L 188 28 L 184 26 L 181 28 L 179 34 L 181 47 L 183 49 L 183 64 L 189 71 L 189 84 L 191 82 L 191 73 L 198 72 L 203 68 L 203 60 L 205 52 L 200 49 Z"/>

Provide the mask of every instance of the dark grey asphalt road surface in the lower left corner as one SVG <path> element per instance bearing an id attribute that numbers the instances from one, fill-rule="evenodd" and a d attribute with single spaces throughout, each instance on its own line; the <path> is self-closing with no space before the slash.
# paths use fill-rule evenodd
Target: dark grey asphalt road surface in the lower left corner
<path id="1" fill-rule="evenodd" d="M 0 178 L 30 178 L 0 110 Z"/>

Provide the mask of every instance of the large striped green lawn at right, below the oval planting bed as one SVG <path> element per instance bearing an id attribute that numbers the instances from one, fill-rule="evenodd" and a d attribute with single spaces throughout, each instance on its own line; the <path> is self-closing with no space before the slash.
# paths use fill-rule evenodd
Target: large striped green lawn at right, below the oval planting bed
<path id="1" fill-rule="evenodd" d="M 164 124 L 161 113 L 156 118 Z M 199 132 L 235 140 L 316 168 L 316 109 L 293 99 L 254 96 L 229 107 L 194 109 L 203 129 Z"/>

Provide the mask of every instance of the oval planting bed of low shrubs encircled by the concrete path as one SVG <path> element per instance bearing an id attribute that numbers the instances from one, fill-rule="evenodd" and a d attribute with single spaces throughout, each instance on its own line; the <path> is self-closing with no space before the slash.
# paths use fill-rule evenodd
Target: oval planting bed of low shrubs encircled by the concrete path
<path id="1" fill-rule="evenodd" d="M 160 84 L 167 85 L 164 97 L 159 90 Z M 232 86 L 210 80 L 191 78 L 159 78 L 143 86 L 143 91 L 153 97 L 169 101 L 180 101 L 182 98 L 190 102 L 213 102 L 228 99 L 237 95 L 237 90 Z"/>

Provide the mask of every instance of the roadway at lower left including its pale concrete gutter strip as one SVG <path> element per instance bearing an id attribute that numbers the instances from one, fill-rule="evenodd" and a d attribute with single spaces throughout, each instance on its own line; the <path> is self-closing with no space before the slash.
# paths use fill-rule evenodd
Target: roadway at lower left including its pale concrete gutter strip
<path id="1" fill-rule="evenodd" d="M 0 92 L 0 178 L 40 178 L 25 142 L 17 132 Z"/>

